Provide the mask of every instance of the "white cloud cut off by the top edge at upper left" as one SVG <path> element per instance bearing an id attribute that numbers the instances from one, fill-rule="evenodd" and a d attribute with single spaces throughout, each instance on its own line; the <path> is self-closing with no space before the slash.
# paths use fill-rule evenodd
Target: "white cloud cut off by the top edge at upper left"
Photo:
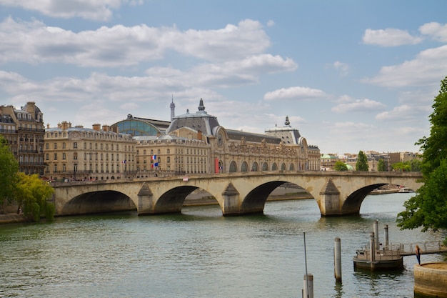
<path id="1" fill-rule="evenodd" d="M 0 0 L 0 5 L 39 11 L 62 19 L 79 17 L 93 21 L 109 21 L 123 4 L 139 5 L 142 0 Z"/>

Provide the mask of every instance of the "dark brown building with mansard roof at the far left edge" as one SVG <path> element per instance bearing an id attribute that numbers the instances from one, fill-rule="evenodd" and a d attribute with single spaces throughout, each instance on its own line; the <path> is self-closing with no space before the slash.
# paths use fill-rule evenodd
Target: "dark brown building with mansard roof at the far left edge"
<path id="1" fill-rule="evenodd" d="M 25 174 L 44 174 L 44 114 L 34 101 L 21 109 L 0 106 L 0 134 Z"/>

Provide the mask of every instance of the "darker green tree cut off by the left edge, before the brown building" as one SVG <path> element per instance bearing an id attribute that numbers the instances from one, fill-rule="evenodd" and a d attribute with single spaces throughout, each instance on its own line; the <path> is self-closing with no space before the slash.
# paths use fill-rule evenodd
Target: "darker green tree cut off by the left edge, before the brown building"
<path id="1" fill-rule="evenodd" d="M 13 199 L 18 172 L 19 162 L 9 149 L 6 139 L 0 136 L 0 204 L 3 204 L 5 199 L 8 202 Z"/>

